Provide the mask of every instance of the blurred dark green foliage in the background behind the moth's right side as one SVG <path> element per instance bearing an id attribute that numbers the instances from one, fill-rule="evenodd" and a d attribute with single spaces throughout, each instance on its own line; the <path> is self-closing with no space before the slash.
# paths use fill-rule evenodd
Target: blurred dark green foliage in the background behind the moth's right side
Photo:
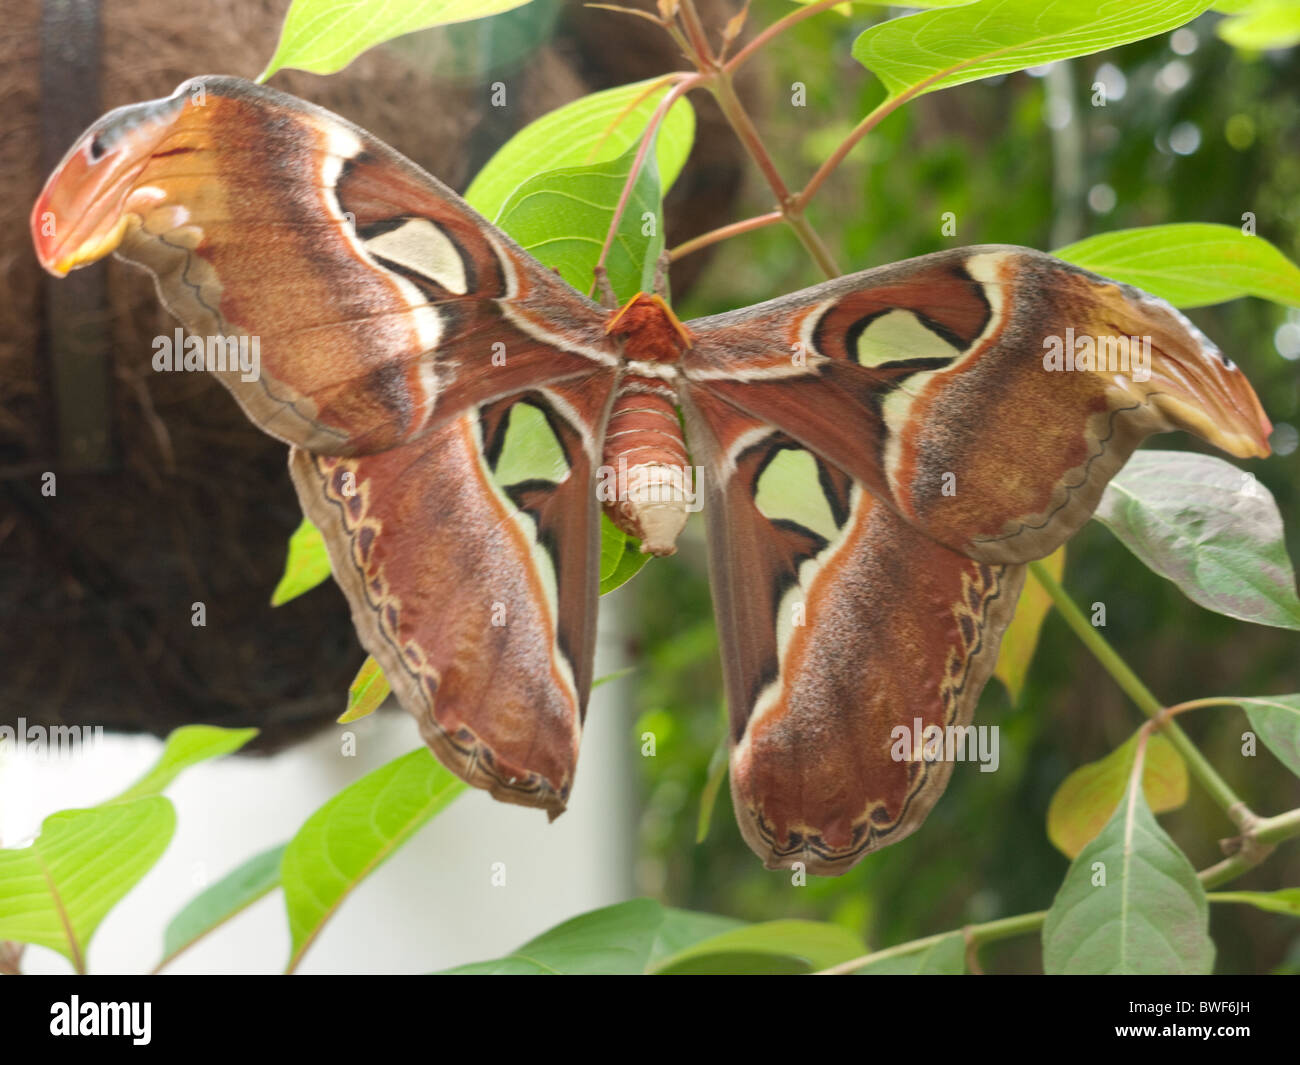
<path id="1" fill-rule="evenodd" d="M 751 26 L 788 10 L 757 0 Z M 853 125 L 883 99 L 854 62 L 853 40 L 872 16 L 829 13 L 802 22 L 763 51 L 753 113 L 786 182 L 800 187 Z M 1049 250 L 1093 233 L 1179 221 L 1240 225 L 1300 259 L 1300 64 L 1295 51 L 1249 55 L 1218 38 L 1210 14 L 1176 34 L 936 92 L 887 118 L 822 190 L 809 217 L 845 272 L 972 243 Z M 1095 105 L 1095 85 L 1106 87 Z M 794 107 L 796 83 L 806 105 Z M 757 174 L 744 213 L 771 209 Z M 956 215 L 956 237 L 941 215 Z M 671 234 L 670 234 L 671 242 Z M 783 226 L 722 244 L 682 317 L 771 299 L 820 281 Z M 1191 317 L 1243 365 L 1278 430 L 1277 454 L 1245 468 L 1275 494 L 1292 558 L 1300 558 L 1300 312 L 1257 299 Z M 1295 350 L 1288 333 L 1295 324 Z M 1277 338 L 1277 342 L 1275 342 Z M 1279 348 L 1292 358 L 1283 358 Z M 1191 447 L 1165 437 L 1161 447 Z M 1014 460 L 1014 456 L 1008 456 Z M 697 845 L 701 793 L 724 735 L 722 675 L 705 572 L 703 525 L 688 527 L 677 558 L 647 566 L 616 596 L 636 618 L 636 735 L 655 735 L 642 762 L 638 889 L 675 906 L 760 921 L 831 919 L 871 948 L 1050 904 L 1067 867 L 1048 841 L 1053 792 L 1079 765 L 1118 746 L 1143 718 L 1054 614 L 1043 631 L 1019 705 L 991 681 L 976 720 L 1001 726 L 1001 767 L 958 765 L 920 831 L 868 856 L 837 879 L 794 887 L 770 873 L 740 837 L 725 793 Z M 1157 696 L 1175 702 L 1221 693 L 1300 690 L 1295 633 L 1218 616 L 1147 571 L 1091 523 L 1071 542 L 1066 588 L 1105 603 L 1105 636 Z M 1261 814 L 1300 802 L 1297 782 L 1264 754 L 1240 754 L 1245 717 L 1190 715 L 1186 727 L 1214 766 Z M 1232 834 L 1192 787 L 1164 823 L 1197 867 L 1221 857 Z M 1282 849 L 1232 888 L 1300 883 L 1300 854 Z M 1269 971 L 1300 956 L 1300 931 L 1282 915 L 1216 906 L 1217 970 Z M 1286 962 L 1290 957 L 1291 961 Z M 1041 971 L 1035 936 L 993 944 L 987 970 Z"/>

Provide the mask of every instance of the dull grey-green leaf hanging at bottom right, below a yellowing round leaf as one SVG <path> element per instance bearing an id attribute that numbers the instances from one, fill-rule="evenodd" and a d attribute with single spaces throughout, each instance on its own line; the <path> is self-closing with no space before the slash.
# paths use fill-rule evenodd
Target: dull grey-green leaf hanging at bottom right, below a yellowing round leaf
<path id="1" fill-rule="evenodd" d="M 1188 975 L 1214 965 L 1201 882 L 1135 784 L 1070 865 L 1048 910 L 1049 975 Z"/>

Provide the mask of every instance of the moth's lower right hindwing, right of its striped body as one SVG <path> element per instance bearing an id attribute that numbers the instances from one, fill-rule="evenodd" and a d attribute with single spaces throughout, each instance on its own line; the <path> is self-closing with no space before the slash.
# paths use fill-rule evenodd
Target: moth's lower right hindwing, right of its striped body
<path id="1" fill-rule="evenodd" d="M 975 758 L 967 728 L 1024 570 L 948 550 L 707 393 L 685 410 L 707 485 L 736 818 L 768 867 L 844 873 L 920 826 L 954 756 Z"/>

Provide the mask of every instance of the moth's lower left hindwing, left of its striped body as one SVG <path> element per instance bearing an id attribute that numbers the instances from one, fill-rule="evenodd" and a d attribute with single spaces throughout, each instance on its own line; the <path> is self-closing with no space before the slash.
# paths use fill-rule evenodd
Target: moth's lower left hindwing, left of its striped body
<path id="1" fill-rule="evenodd" d="M 552 386 L 376 455 L 290 458 L 361 644 L 425 741 L 552 818 L 592 685 L 608 402 Z"/>

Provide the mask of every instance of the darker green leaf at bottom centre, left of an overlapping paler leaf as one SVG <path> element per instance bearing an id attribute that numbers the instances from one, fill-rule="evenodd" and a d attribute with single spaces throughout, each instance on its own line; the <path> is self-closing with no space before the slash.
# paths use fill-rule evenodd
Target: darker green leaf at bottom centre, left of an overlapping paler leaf
<path id="1" fill-rule="evenodd" d="M 556 925 L 495 961 L 448 971 L 476 975 L 634 975 L 701 940 L 741 927 L 714 914 L 667 909 L 653 899 L 618 902 Z"/>

